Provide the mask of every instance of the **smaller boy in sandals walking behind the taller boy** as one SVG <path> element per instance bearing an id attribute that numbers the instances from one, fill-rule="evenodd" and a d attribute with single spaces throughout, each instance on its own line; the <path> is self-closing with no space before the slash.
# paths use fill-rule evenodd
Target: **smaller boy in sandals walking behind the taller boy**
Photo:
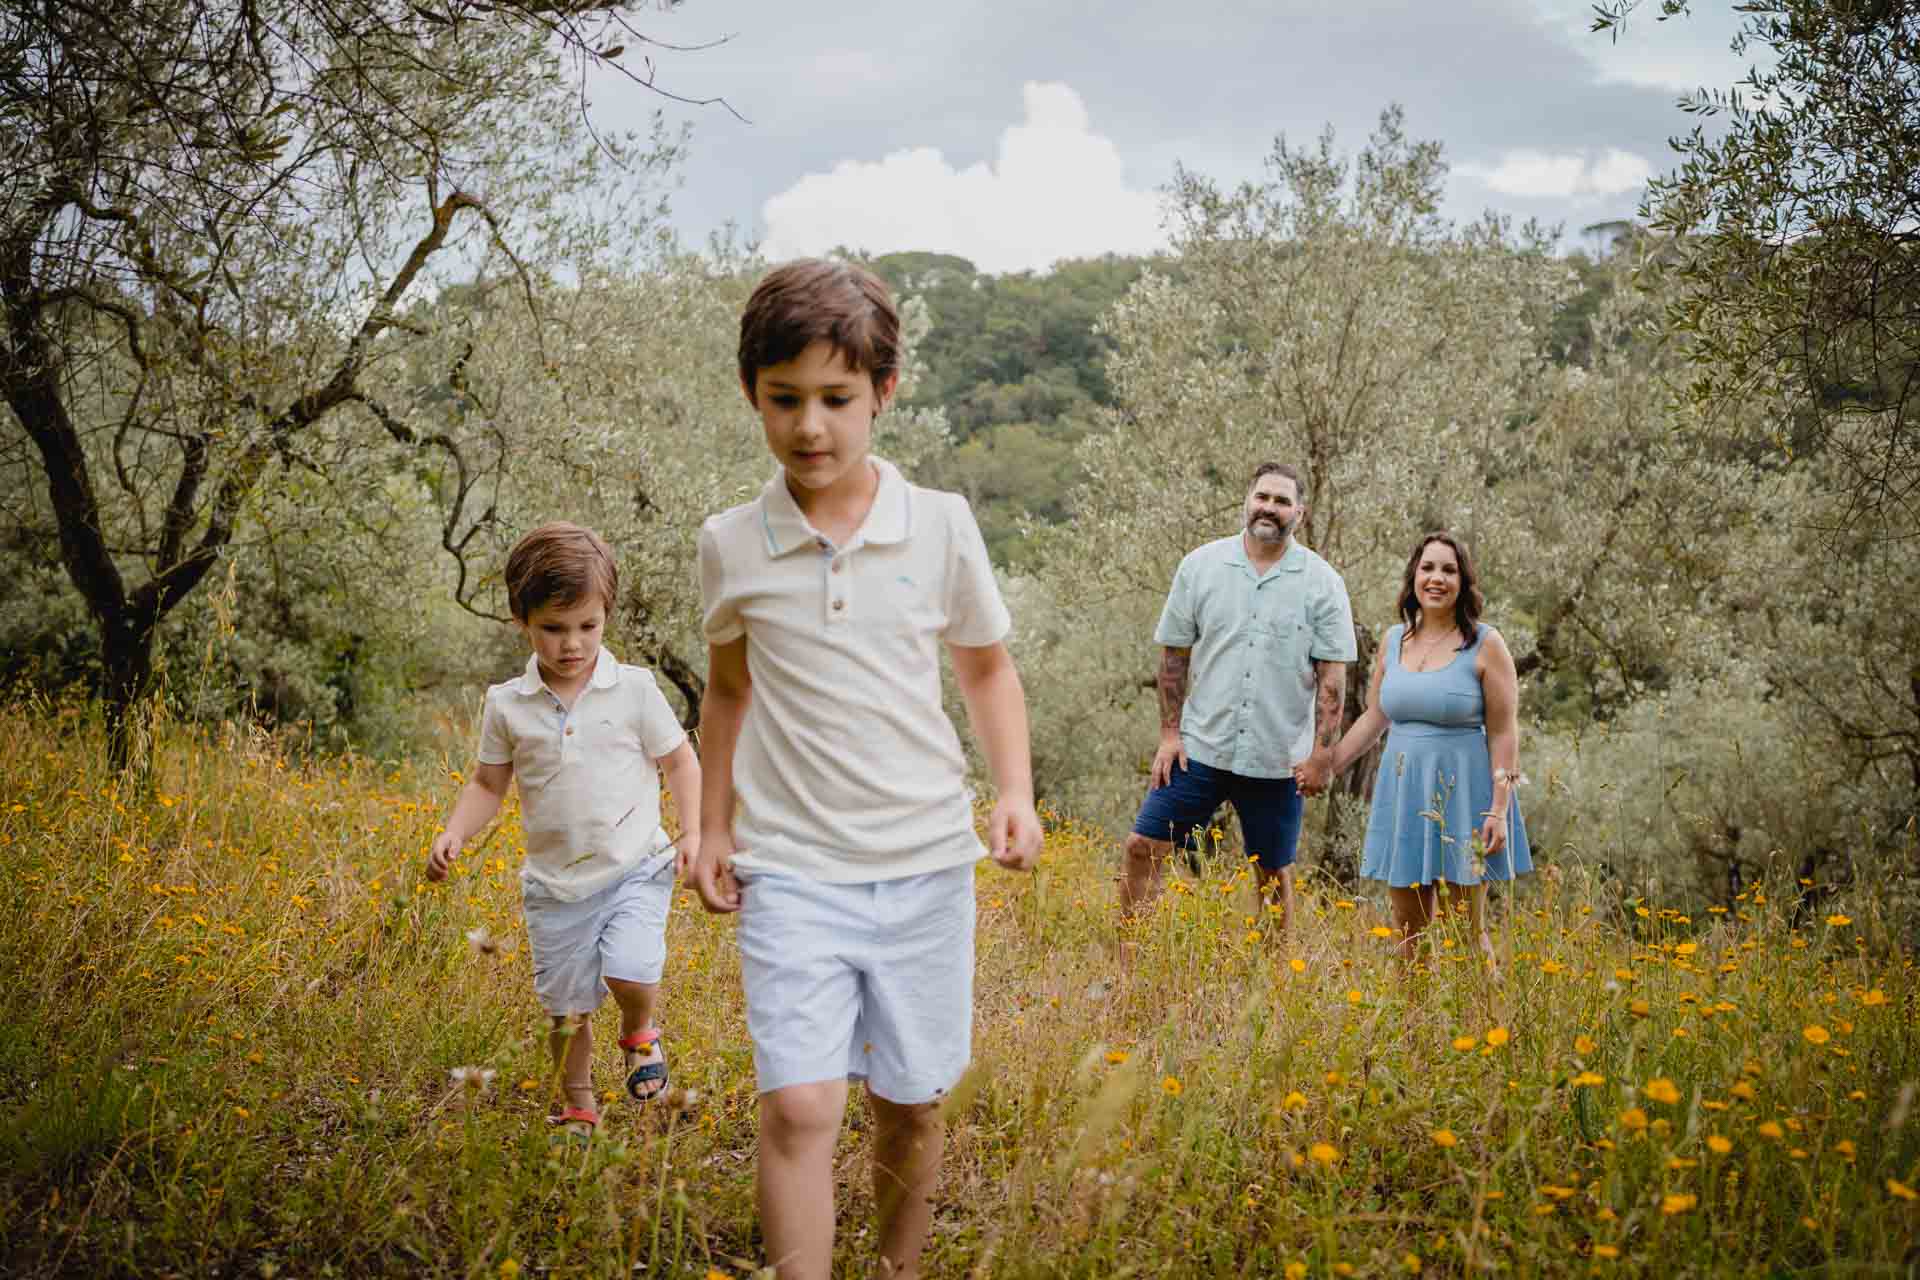
<path id="1" fill-rule="evenodd" d="M 520 902 L 566 1096 L 555 1123 L 580 1138 L 599 1125 L 591 1015 L 607 990 L 620 1006 L 626 1092 L 647 1102 L 666 1088 L 653 1021 L 666 912 L 701 841 L 701 766 L 674 708 L 645 668 L 601 647 L 618 581 L 607 543 L 578 524 L 543 524 L 515 545 L 507 608 L 534 654 L 486 691 L 480 764 L 426 856 L 426 879 L 445 879 L 520 779 Z M 678 854 L 660 829 L 657 768 L 680 812 Z"/>

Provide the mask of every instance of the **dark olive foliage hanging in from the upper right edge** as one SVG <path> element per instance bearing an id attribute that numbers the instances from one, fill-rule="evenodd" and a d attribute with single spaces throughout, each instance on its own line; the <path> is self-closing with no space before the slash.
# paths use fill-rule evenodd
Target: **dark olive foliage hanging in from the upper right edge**
<path id="1" fill-rule="evenodd" d="M 1596 6 L 1619 31 L 1642 0 Z M 1688 0 L 1659 0 L 1678 17 Z M 1920 530 L 1920 2 L 1749 0 L 1753 71 L 1682 109 L 1680 165 L 1644 217 L 1668 238 L 1649 274 L 1682 288 L 1668 328 L 1682 391 L 1728 407 L 1772 393 L 1788 430 L 1749 445 L 1830 453 L 1826 530 Z"/>

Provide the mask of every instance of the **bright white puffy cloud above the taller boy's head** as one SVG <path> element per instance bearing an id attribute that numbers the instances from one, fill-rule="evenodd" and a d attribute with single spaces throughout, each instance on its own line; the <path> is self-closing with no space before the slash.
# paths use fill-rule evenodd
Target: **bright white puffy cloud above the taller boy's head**
<path id="1" fill-rule="evenodd" d="M 766 201 L 766 255 L 933 249 L 1002 273 L 1162 248 L 1160 196 L 1127 186 L 1081 96 L 1029 81 L 1023 98 L 1025 121 L 1000 134 L 993 165 L 954 169 L 924 146 L 808 173 Z"/>

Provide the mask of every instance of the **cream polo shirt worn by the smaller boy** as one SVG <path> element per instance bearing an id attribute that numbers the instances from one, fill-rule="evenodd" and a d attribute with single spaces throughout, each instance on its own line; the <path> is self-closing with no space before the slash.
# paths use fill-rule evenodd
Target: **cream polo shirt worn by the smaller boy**
<path id="1" fill-rule="evenodd" d="M 578 902 L 636 871 L 659 871 L 674 852 L 660 829 L 655 762 L 685 739 L 653 674 L 607 649 L 572 710 L 540 677 L 540 658 L 488 689 L 480 764 L 511 764 L 520 785 L 520 879 Z"/>

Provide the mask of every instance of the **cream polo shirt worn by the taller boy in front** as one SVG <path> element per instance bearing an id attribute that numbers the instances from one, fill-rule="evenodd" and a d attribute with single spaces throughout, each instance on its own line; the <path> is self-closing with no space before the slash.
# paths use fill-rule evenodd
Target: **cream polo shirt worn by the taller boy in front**
<path id="1" fill-rule="evenodd" d="M 958 493 L 872 459 L 879 491 L 835 547 L 778 472 L 701 528 L 707 639 L 747 637 L 753 697 L 733 750 L 743 871 L 883 881 L 981 856 L 966 756 L 941 706 L 941 643 L 1012 626 Z"/>

